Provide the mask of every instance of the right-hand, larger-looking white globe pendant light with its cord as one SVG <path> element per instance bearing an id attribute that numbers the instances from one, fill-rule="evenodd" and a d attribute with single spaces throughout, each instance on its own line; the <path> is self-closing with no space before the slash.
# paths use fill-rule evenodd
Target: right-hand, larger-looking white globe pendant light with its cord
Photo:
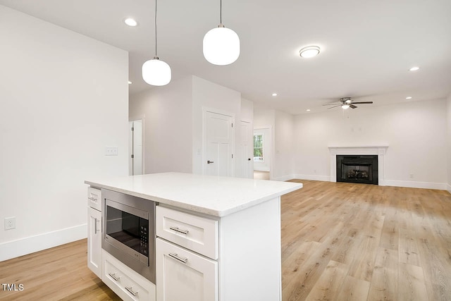
<path id="1" fill-rule="evenodd" d="M 223 4 L 220 2 L 220 21 L 218 27 L 204 36 L 204 57 L 214 65 L 229 65 L 240 56 L 240 38 L 233 30 L 223 25 Z"/>

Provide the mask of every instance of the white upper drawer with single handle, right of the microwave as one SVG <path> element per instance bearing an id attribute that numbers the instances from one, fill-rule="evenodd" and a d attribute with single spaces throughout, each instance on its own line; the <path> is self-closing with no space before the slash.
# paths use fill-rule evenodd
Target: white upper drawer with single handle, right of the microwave
<path id="1" fill-rule="evenodd" d="M 218 259 L 218 221 L 166 207 L 156 207 L 156 236 Z"/>

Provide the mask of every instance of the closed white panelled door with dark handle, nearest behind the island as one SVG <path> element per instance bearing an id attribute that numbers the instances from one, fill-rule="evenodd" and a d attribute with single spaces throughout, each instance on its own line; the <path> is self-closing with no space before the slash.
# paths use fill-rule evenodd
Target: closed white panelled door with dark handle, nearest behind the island
<path id="1" fill-rule="evenodd" d="M 204 174 L 233 176 L 233 117 L 206 111 Z"/>

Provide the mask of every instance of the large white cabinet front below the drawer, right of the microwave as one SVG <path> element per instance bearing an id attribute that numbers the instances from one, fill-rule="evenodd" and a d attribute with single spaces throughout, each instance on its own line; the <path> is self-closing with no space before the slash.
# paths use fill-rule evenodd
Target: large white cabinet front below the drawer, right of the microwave
<path id="1" fill-rule="evenodd" d="M 156 300 L 218 300 L 218 262 L 156 239 Z"/>

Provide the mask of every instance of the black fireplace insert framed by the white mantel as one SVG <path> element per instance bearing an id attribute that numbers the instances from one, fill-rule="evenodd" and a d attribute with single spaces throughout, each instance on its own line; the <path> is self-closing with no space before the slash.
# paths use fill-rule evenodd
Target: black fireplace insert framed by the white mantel
<path id="1" fill-rule="evenodd" d="M 337 155 L 337 182 L 378 185 L 377 155 Z"/>

